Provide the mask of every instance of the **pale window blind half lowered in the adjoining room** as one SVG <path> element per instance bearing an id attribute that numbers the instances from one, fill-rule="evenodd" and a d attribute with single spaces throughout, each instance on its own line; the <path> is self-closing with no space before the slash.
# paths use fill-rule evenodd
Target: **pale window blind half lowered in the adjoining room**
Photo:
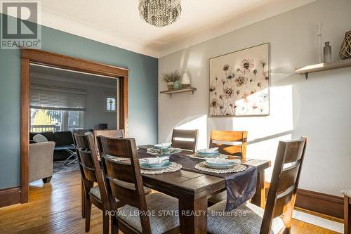
<path id="1" fill-rule="evenodd" d="M 48 86 L 30 87 L 30 108 L 85 110 L 86 92 L 56 89 Z"/>

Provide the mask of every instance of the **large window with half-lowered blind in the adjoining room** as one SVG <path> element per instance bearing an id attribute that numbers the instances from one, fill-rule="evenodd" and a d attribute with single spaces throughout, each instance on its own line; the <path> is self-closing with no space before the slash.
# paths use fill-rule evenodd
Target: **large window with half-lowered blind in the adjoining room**
<path id="1" fill-rule="evenodd" d="M 30 131 L 84 128 L 86 93 L 46 86 L 30 88 Z"/>

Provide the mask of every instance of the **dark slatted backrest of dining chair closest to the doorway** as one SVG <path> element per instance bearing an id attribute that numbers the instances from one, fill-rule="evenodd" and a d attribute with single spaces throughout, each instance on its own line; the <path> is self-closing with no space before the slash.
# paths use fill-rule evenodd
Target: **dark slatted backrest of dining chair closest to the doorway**
<path id="1" fill-rule="evenodd" d="M 102 203 L 108 202 L 105 181 L 102 177 L 100 162 L 95 150 L 93 134 L 73 134 L 73 136 L 84 189 L 88 192 L 93 188 L 94 182 L 98 183 Z"/>

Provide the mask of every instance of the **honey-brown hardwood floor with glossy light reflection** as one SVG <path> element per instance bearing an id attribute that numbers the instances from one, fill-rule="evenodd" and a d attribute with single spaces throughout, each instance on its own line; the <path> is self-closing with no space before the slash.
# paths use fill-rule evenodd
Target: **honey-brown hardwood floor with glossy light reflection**
<path id="1" fill-rule="evenodd" d="M 48 184 L 31 183 L 28 203 L 0 209 L 0 233 L 85 233 L 80 186 L 79 171 L 55 174 Z M 91 212 L 89 233 L 102 233 L 102 213 L 96 207 Z M 292 233 L 336 232 L 293 220 Z"/>

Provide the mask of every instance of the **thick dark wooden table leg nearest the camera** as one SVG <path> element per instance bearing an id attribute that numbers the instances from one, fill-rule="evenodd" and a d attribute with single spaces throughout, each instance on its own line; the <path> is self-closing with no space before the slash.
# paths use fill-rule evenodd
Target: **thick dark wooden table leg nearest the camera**
<path id="1" fill-rule="evenodd" d="M 207 233 L 207 197 L 179 199 L 180 233 Z"/>

